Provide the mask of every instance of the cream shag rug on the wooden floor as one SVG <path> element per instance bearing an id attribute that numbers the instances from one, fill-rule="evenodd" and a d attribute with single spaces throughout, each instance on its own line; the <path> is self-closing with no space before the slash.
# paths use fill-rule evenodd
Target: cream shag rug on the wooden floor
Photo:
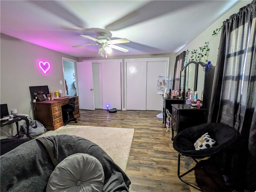
<path id="1" fill-rule="evenodd" d="M 80 136 L 94 142 L 100 146 L 122 170 L 126 170 L 134 134 L 133 128 L 66 125 L 55 131 L 48 131 L 40 135 L 40 137 L 60 134 Z"/>

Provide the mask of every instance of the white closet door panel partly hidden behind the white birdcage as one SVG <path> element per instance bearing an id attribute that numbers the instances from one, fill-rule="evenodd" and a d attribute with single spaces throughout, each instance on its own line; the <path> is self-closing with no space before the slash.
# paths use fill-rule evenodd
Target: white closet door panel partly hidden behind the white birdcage
<path id="1" fill-rule="evenodd" d="M 160 75 L 166 76 L 167 61 L 147 62 L 146 110 L 162 110 L 162 95 L 156 92 L 156 82 Z"/>

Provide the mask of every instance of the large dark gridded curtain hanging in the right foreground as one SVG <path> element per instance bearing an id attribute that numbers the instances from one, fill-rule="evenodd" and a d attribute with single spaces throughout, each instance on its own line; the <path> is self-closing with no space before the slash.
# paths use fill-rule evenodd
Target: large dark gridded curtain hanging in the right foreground
<path id="1" fill-rule="evenodd" d="M 238 190 L 256 190 L 256 1 L 223 22 L 208 122 L 234 127 Z"/>

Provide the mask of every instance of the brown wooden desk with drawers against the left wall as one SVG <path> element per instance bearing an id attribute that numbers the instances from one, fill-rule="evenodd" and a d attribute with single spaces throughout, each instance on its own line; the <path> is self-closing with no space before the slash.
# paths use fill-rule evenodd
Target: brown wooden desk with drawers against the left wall
<path id="1" fill-rule="evenodd" d="M 36 102 L 34 104 L 34 118 L 44 125 L 47 130 L 56 130 L 63 126 L 61 106 L 69 103 L 71 98 L 66 96 L 63 100 L 47 100 Z M 75 118 L 80 117 L 78 96 L 75 102 L 76 110 L 72 115 Z"/>

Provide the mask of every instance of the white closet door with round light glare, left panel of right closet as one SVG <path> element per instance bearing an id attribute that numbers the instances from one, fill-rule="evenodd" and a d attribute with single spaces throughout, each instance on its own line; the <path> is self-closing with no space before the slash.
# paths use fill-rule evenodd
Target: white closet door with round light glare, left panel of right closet
<path id="1" fill-rule="evenodd" d="M 147 62 L 126 62 L 126 109 L 146 110 Z"/>

